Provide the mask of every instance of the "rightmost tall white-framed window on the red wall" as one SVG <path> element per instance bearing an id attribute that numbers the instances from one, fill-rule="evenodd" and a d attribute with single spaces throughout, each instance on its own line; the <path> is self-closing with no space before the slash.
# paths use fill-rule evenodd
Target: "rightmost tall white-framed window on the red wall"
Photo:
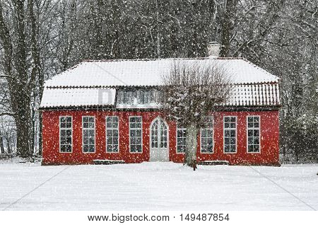
<path id="1" fill-rule="evenodd" d="M 247 117 L 247 152 L 260 152 L 259 116 Z"/>

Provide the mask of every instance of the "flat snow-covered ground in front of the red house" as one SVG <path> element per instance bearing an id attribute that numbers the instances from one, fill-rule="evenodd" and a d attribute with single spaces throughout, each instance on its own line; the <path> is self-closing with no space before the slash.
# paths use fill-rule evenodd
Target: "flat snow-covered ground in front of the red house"
<path id="1" fill-rule="evenodd" d="M 199 166 L 141 163 L 40 166 L 0 162 L 6 210 L 313 210 L 318 164 Z"/>

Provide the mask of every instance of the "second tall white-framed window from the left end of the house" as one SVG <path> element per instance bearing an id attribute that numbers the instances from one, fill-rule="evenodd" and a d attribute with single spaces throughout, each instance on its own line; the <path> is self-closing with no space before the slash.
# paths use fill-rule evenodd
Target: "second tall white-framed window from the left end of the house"
<path id="1" fill-rule="evenodd" d="M 95 152 L 95 117 L 83 117 L 83 152 Z"/>

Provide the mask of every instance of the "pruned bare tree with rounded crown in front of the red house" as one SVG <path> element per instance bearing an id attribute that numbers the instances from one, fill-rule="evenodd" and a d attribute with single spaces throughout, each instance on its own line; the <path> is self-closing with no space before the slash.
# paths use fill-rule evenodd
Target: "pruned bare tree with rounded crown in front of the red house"
<path id="1" fill-rule="evenodd" d="M 163 76 L 163 110 L 187 128 L 184 162 L 194 170 L 199 130 L 215 106 L 225 103 L 231 89 L 228 72 L 211 60 L 175 59 Z"/>

